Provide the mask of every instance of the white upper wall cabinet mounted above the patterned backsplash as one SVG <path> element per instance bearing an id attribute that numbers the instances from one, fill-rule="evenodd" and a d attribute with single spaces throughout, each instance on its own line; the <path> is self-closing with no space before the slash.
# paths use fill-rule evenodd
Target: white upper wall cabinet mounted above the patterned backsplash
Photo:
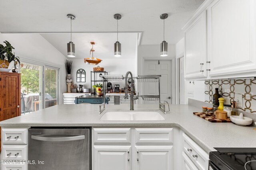
<path id="1" fill-rule="evenodd" d="M 254 75 L 255 9 L 255 0 L 204 1 L 183 27 L 185 78 L 203 80 Z"/>

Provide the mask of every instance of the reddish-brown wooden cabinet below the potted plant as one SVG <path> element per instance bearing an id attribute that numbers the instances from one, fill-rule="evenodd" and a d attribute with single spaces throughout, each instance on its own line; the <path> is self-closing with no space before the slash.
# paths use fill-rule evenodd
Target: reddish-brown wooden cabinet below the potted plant
<path id="1" fill-rule="evenodd" d="M 1 74 L 1 121 L 20 115 L 20 76 Z"/>

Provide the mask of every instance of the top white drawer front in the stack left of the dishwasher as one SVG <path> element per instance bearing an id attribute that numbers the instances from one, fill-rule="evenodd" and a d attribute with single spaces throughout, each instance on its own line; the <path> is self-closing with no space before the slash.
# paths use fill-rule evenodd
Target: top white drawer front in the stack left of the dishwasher
<path id="1" fill-rule="evenodd" d="M 28 144 L 28 129 L 2 129 L 3 144 Z"/>

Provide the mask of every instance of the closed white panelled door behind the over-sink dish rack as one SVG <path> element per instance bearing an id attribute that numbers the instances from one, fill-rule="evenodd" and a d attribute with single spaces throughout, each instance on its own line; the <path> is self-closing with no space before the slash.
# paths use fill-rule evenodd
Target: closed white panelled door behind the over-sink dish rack
<path id="1" fill-rule="evenodd" d="M 160 100 L 166 100 L 169 104 L 172 103 L 171 66 L 170 60 L 145 60 L 144 62 L 144 75 L 161 75 Z M 143 94 L 159 95 L 158 82 L 144 82 Z"/>

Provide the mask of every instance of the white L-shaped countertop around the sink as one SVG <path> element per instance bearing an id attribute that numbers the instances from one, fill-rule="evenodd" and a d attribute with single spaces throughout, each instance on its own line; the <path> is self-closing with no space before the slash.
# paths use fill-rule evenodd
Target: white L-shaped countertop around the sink
<path id="1" fill-rule="evenodd" d="M 130 104 L 106 105 L 108 110 L 127 110 Z M 136 110 L 156 110 L 158 105 L 134 105 Z M 256 131 L 253 126 L 242 127 L 234 123 L 211 123 L 193 112 L 201 108 L 190 105 L 170 105 L 165 120 L 158 121 L 102 121 L 99 105 L 57 105 L 0 122 L 1 127 L 35 126 L 92 126 L 92 127 L 180 127 L 206 152 L 214 147 L 256 147 Z"/>

